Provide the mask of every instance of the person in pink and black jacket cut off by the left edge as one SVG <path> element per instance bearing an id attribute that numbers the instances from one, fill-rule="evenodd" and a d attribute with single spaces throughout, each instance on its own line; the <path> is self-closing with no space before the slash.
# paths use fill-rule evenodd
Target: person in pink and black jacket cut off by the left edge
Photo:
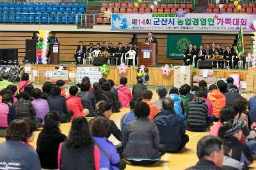
<path id="1" fill-rule="evenodd" d="M 5 137 L 6 129 L 16 118 L 16 111 L 12 106 L 12 94 L 6 92 L 3 94 L 2 103 L 0 103 L 0 137 Z"/>

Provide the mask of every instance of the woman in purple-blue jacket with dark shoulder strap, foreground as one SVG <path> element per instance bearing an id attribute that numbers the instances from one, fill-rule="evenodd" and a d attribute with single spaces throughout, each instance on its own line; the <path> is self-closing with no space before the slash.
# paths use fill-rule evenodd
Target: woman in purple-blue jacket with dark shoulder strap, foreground
<path id="1" fill-rule="evenodd" d="M 120 159 L 115 145 L 105 137 L 108 129 L 108 119 L 104 117 L 93 118 L 91 130 L 95 145 L 99 148 L 100 152 L 100 169 L 123 170 L 126 167 L 124 160 Z"/>

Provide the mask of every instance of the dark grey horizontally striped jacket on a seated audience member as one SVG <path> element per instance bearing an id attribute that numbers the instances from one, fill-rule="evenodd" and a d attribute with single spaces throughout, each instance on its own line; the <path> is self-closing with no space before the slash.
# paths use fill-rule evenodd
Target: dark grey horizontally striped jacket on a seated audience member
<path id="1" fill-rule="evenodd" d="M 188 127 L 205 127 L 206 118 L 208 118 L 208 107 L 205 100 L 196 97 L 188 103 L 187 123 Z"/>

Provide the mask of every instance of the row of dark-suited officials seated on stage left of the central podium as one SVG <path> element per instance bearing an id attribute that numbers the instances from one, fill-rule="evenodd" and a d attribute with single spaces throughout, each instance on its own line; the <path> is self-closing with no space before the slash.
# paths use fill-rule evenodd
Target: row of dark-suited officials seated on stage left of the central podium
<path id="1" fill-rule="evenodd" d="M 112 43 L 109 43 L 108 41 L 102 43 L 102 46 L 100 46 L 100 43 L 97 43 L 97 45 L 94 47 L 93 43 L 89 44 L 90 46 L 86 50 L 86 46 L 83 45 L 83 41 L 79 42 L 79 45 L 77 46 L 76 53 L 74 55 L 76 64 L 83 64 L 84 54 L 85 57 L 89 57 L 90 53 L 92 53 L 94 50 L 100 50 L 100 52 L 109 52 L 111 55 L 114 55 L 117 58 L 117 64 L 121 64 L 121 57 L 123 53 L 127 53 L 130 50 L 134 50 L 136 52 L 136 57 L 138 57 L 138 47 L 136 43 L 125 43 L 125 46 L 123 46 L 122 43 L 118 43 L 118 46 L 115 48 L 113 47 Z M 78 57 L 81 57 L 80 61 L 78 60 Z"/>

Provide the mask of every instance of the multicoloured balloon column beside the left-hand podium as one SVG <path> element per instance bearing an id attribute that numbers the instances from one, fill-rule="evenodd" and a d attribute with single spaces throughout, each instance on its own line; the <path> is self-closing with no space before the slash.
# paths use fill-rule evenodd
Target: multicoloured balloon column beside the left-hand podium
<path id="1" fill-rule="evenodd" d="M 47 64 L 47 53 L 49 51 L 48 36 L 50 31 L 45 31 L 40 29 L 39 33 L 36 34 L 38 38 L 38 43 L 36 43 L 36 63 L 37 64 Z"/>

